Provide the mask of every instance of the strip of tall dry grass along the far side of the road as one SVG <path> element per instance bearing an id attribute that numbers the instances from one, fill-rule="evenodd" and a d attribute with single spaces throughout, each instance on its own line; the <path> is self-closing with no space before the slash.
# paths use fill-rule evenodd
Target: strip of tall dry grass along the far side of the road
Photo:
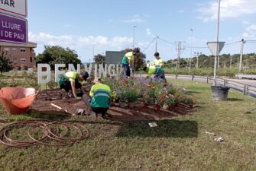
<path id="1" fill-rule="evenodd" d="M 212 76 L 213 68 L 164 68 L 166 74 L 194 74 L 199 76 Z M 256 74 L 256 69 L 248 69 L 239 72 L 238 68 L 219 68 L 218 75 L 235 77 L 235 74 Z"/>

